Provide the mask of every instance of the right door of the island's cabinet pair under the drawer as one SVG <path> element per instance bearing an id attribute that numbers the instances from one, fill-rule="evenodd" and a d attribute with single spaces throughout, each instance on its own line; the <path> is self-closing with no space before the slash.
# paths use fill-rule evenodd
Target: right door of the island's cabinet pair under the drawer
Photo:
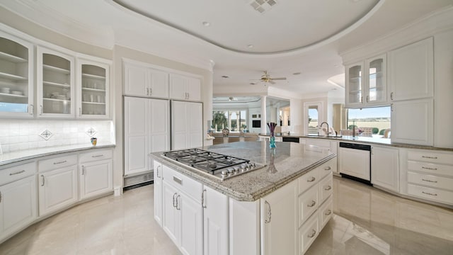
<path id="1" fill-rule="evenodd" d="M 200 203 L 178 193 L 176 210 L 181 215 L 180 250 L 183 254 L 203 254 L 203 210 Z"/>

